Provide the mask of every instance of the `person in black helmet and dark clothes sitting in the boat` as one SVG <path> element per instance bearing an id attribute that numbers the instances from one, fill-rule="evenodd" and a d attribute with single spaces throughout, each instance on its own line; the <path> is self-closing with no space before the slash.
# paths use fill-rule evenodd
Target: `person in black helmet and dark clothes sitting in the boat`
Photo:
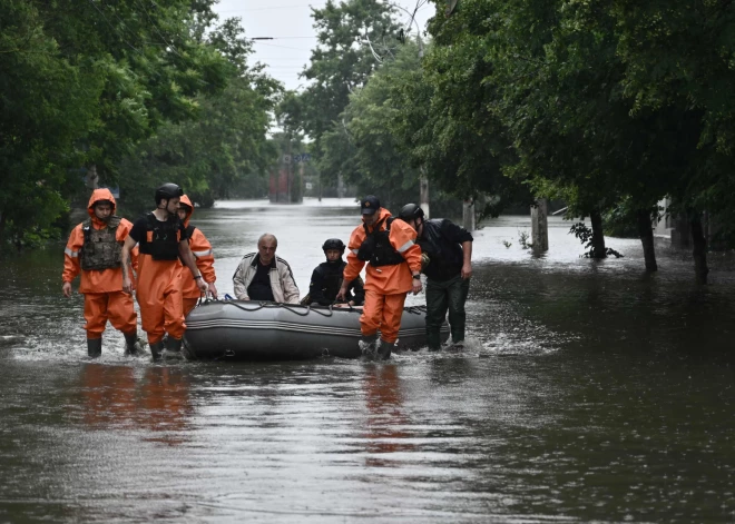
<path id="1" fill-rule="evenodd" d="M 344 243 L 339 238 L 330 238 L 322 246 L 326 261 L 316 266 L 312 274 L 312 281 L 308 286 L 310 304 L 318 304 L 320 306 L 331 306 L 334 304 L 342 286 L 344 266 L 347 265 L 346 261 L 342 260 L 344 248 Z M 350 306 L 362 306 L 365 300 L 365 290 L 363 289 L 361 277 L 350 283 L 345 299 Z M 335 305 L 337 307 L 341 306 L 340 304 Z"/>

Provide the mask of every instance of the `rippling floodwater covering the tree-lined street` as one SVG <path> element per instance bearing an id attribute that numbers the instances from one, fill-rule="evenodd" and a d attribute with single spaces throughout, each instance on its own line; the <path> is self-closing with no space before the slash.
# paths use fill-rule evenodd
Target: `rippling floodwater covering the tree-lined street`
<path id="1" fill-rule="evenodd" d="M 268 230 L 303 295 L 357 220 L 334 199 L 193 221 L 220 293 Z M 92 363 L 62 247 L 7 256 L 0 522 L 734 522 L 731 260 L 697 287 L 686 254 L 647 276 L 638 241 L 595 263 L 568 226 L 535 258 L 525 217 L 489 221 L 468 347 L 388 363 L 154 365 L 111 328 Z"/>

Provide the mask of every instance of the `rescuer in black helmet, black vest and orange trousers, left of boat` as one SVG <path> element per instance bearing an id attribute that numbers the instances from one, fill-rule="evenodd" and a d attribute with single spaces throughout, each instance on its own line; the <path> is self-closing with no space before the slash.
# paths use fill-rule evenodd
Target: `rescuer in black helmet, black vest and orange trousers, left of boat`
<path id="1" fill-rule="evenodd" d="M 143 330 L 154 360 L 164 353 L 164 334 L 168 333 L 166 350 L 180 355 L 184 324 L 182 301 L 182 266 L 189 268 L 200 293 L 207 293 L 207 283 L 189 249 L 184 223 L 178 218 L 178 202 L 184 191 L 176 184 L 164 184 L 156 189 L 156 209 L 133 225 L 122 246 L 122 267 L 130 265 L 130 251 L 139 245 L 138 283 L 136 286 Z M 122 290 L 133 293 L 127 271 L 122 273 Z"/>

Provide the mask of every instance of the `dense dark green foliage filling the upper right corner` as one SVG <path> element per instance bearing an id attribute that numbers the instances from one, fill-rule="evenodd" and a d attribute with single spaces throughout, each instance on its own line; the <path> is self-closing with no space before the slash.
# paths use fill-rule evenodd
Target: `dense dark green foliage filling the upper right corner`
<path id="1" fill-rule="evenodd" d="M 577 216 L 620 201 L 647 210 L 665 195 L 729 214 L 733 19 L 729 2 L 462 0 L 431 21 L 424 100 L 444 125 L 406 126 L 433 139 L 412 149 L 430 158 L 422 144 L 468 130 L 452 151 L 463 158 L 480 137 L 498 162 L 482 181 L 501 172 Z M 479 187 L 468 176 L 479 169 L 443 171 Z"/>

